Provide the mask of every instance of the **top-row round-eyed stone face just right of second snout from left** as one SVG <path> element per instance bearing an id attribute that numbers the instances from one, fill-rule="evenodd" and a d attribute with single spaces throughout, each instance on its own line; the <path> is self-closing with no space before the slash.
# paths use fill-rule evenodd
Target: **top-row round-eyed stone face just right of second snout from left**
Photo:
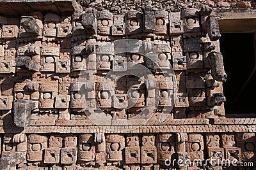
<path id="1" fill-rule="evenodd" d="M 98 34 L 109 35 L 113 25 L 113 15 L 109 11 L 100 11 L 97 17 Z"/>

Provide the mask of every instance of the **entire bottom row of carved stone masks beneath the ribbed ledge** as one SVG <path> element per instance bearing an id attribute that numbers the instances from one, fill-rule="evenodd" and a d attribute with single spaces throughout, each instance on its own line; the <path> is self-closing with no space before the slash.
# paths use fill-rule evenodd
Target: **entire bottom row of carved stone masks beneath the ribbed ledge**
<path id="1" fill-rule="evenodd" d="M 237 142 L 234 141 L 235 138 Z M 121 161 L 124 160 L 123 155 L 125 155 L 125 164 L 155 164 L 158 162 L 164 165 L 164 160 L 175 157 L 175 145 L 177 145 L 175 141 L 173 134 L 157 134 L 156 137 L 148 134 L 141 138 L 136 135 L 127 135 L 124 138 L 119 134 L 107 134 L 105 138 L 101 134 L 80 134 L 78 160 L 80 162 Z M 29 134 L 26 143 L 22 134 L 15 136 L 6 134 L 3 140 L 3 151 L 27 151 L 29 162 L 44 160 L 47 164 L 58 164 L 60 161 L 61 164 L 76 163 L 77 136 L 50 136 L 49 147 L 47 147 L 47 143 L 48 138 L 43 135 Z M 27 145 L 27 149 L 24 144 Z M 207 134 L 205 144 L 209 159 L 228 159 L 230 162 L 234 159 L 237 159 L 238 162 L 255 160 L 254 133 L 241 132 L 235 135 L 221 134 L 220 136 Z M 186 151 L 190 160 L 204 160 L 204 138 L 201 134 L 188 134 L 185 145 L 186 150 L 177 150 L 176 152 Z M 106 154 L 106 158 L 102 154 Z"/>

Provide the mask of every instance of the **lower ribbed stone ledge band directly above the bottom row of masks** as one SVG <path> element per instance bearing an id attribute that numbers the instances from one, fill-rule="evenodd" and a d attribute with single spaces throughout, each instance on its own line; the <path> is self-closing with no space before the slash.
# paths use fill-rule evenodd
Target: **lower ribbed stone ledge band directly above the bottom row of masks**
<path id="1" fill-rule="evenodd" d="M 0 127 L 0 133 L 19 133 L 19 127 Z M 38 133 L 155 133 L 155 132 L 256 132 L 256 125 L 124 125 L 124 126 L 30 126 L 26 134 Z"/>

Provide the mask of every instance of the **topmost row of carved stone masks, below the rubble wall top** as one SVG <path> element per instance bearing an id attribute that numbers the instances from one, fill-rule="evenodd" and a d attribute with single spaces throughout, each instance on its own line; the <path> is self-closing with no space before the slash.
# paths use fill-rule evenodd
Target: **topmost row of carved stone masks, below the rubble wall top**
<path id="1" fill-rule="evenodd" d="M 88 19 L 86 22 L 96 22 L 91 25 L 95 25 L 95 33 L 97 31 L 100 35 L 124 35 L 126 34 L 141 34 L 143 33 L 144 27 L 147 24 L 154 25 L 152 32 L 155 34 L 168 34 L 168 24 L 170 22 L 170 34 L 177 34 L 183 32 L 200 32 L 200 11 L 191 8 L 183 10 L 182 13 L 168 13 L 164 10 L 155 10 L 151 11 L 153 19 L 150 22 L 143 23 L 143 13 L 140 11 L 129 11 L 125 15 L 115 15 L 109 11 L 103 10 L 98 11 L 97 15 L 93 15 L 94 12 L 88 12 L 92 14 L 94 19 Z M 147 12 L 146 12 L 147 13 Z M 210 13 L 209 13 L 210 14 Z M 81 15 L 84 13 L 76 12 L 73 15 L 73 33 L 74 36 L 78 36 L 85 33 L 83 21 L 81 22 Z M 145 14 L 144 14 L 145 15 Z M 146 14 L 147 16 L 147 14 Z M 86 20 L 86 16 L 84 18 Z M 147 18 L 145 18 L 146 20 Z M 44 20 L 44 23 L 42 22 Z M 70 24 L 70 17 L 60 17 L 54 13 L 47 13 L 45 16 L 40 12 L 34 12 L 31 16 L 22 16 L 20 20 L 20 32 L 17 25 L 7 25 L 7 22 L 2 24 L 2 38 L 17 38 L 18 33 L 20 38 L 30 36 L 45 36 L 48 38 L 60 37 L 67 38 L 71 36 L 72 26 Z M 37 31 L 29 31 L 26 26 L 22 26 L 23 23 L 31 22 L 33 25 L 36 25 Z M 151 23 L 152 22 L 152 23 Z M 210 20 L 211 22 L 211 20 Z M 125 23 L 125 24 L 124 24 Z M 150 25 L 151 26 L 151 25 Z M 31 27 L 31 30 L 33 28 Z M 215 30 L 215 29 L 214 29 Z M 218 25 L 216 26 L 216 31 L 218 33 Z M 214 32 L 216 32 L 214 31 Z M 219 34 L 219 33 L 218 33 Z M 215 35 L 213 35 L 215 36 Z"/>

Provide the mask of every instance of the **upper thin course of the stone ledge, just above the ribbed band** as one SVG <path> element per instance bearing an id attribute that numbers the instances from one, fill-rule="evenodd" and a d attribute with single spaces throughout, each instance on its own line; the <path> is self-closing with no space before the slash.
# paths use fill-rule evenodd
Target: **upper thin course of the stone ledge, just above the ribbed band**
<path id="1" fill-rule="evenodd" d="M 120 122 L 120 121 L 119 121 Z M 99 122 L 98 122 L 99 123 Z M 4 124 L 3 120 L 0 120 L 0 125 L 7 127 L 15 127 L 15 124 Z M 100 125 L 106 127 L 106 126 L 115 126 L 115 127 L 124 127 L 124 126 L 140 126 L 140 125 L 157 125 L 157 126 L 163 126 L 163 125 L 256 125 L 256 118 L 214 118 L 214 122 L 212 124 L 209 124 L 209 119 L 205 118 L 182 118 L 182 119 L 170 119 L 166 120 L 164 122 L 159 122 L 158 120 L 148 120 L 148 122 L 141 121 L 137 122 L 137 124 L 127 124 L 127 122 L 124 122 L 123 124 L 116 124 L 115 120 L 109 120 L 106 122 L 101 122 Z M 31 120 L 29 127 L 45 127 L 45 126 L 70 126 L 70 127 L 91 127 L 91 126 L 97 126 L 95 123 L 93 123 L 92 120 Z"/>

